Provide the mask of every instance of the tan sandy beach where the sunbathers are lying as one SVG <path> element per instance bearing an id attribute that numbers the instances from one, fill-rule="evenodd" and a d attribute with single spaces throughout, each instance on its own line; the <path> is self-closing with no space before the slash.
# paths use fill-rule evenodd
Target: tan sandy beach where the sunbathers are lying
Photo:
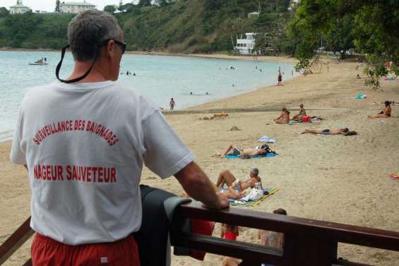
<path id="1" fill-rule="evenodd" d="M 202 55 L 203 56 L 203 55 Z M 215 57 L 215 56 L 212 56 Z M 262 59 L 263 60 L 263 59 Z M 264 59 L 267 60 L 267 59 Z M 285 59 L 283 59 L 285 60 Z M 291 60 L 291 59 L 287 59 Z M 212 108 L 287 107 L 296 114 L 300 103 L 323 121 L 299 125 L 275 125 L 277 111 L 228 112 L 225 119 L 200 120 L 209 114 L 166 114 L 166 118 L 186 145 L 196 154 L 196 162 L 216 181 L 218 173 L 229 169 L 246 179 L 251 167 L 258 167 L 263 186 L 280 188 L 253 210 L 272 212 L 284 208 L 289 215 L 331 222 L 399 231 L 399 181 L 388 174 L 399 171 L 399 107 L 393 106 L 389 119 L 367 119 L 383 108 L 385 100 L 399 101 L 399 80 L 383 81 L 383 91 L 364 87 L 356 79 L 357 64 L 330 61 L 329 72 L 300 76 L 281 87 L 262 87 L 254 92 L 210 102 L 189 110 Z M 289 73 L 290 75 L 290 73 Z M 358 93 L 367 99 L 352 99 Z M 230 131 L 237 126 L 240 131 Z M 301 135 L 304 129 L 349 127 L 356 136 Z M 263 135 L 277 139 L 270 147 L 277 157 L 225 159 L 215 152 L 230 143 L 239 147 L 259 145 Z M 3 243 L 30 214 L 30 188 L 26 170 L 13 165 L 8 156 L 11 143 L 0 143 L 1 184 L 0 243 Z M 142 183 L 180 194 L 173 177 L 161 180 L 144 169 Z M 218 236 L 217 224 L 214 236 Z M 255 229 L 240 228 L 239 241 L 260 243 Z M 339 257 L 371 265 L 398 265 L 399 253 L 340 244 Z M 22 265 L 30 256 L 30 241 L 5 265 Z M 204 262 L 173 257 L 172 265 L 221 265 L 219 255 L 206 255 Z"/>

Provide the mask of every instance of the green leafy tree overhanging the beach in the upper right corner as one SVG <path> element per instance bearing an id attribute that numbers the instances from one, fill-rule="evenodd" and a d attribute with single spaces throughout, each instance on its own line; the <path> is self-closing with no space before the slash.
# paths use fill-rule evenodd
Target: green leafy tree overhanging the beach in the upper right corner
<path id="1" fill-rule="evenodd" d="M 332 49 L 345 51 L 354 46 L 367 54 L 366 85 L 378 88 L 379 78 L 388 73 L 384 62 L 399 63 L 398 10 L 399 1 L 393 0 L 299 1 L 290 24 L 295 56 L 299 61 L 311 58 L 323 34 Z"/>

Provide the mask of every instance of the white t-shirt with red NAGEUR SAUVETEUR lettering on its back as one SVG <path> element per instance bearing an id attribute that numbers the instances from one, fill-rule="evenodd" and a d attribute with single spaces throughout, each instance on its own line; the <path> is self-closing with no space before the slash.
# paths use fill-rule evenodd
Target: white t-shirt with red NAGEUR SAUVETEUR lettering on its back
<path id="1" fill-rule="evenodd" d="M 32 229 L 70 245 L 138 231 L 143 162 L 164 179 L 194 159 L 159 110 L 111 81 L 29 90 L 10 157 L 28 165 Z"/>

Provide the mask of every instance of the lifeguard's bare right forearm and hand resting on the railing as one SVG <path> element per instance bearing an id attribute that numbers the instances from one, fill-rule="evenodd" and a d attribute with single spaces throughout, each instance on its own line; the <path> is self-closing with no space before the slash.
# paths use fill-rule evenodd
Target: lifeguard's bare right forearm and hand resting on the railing
<path id="1" fill-rule="evenodd" d="M 222 193 L 217 193 L 218 188 L 195 162 L 191 162 L 174 174 L 184 191 L 194 200 L 203 202 L 206 207 L 223 209 L 229 207 L 229 200 Z"/>

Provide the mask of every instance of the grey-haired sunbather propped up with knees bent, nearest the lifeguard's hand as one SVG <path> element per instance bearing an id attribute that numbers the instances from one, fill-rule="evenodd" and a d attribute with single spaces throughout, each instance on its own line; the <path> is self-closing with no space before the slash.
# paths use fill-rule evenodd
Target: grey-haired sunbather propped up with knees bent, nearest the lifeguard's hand
<path id="1" fill-rule="evenodd" d="M 260 187 L 262 188 L 262 180 L 258 174 L 259 170 L 257 168 L 252 168 L 251 171 L 249 171 L 249 179 L 246 181 L 240 181 L 232 174 L 231 171 L 225 170 L 219 174 L 216 186 L 219 189 L 223 188 L 223 186 L 226 184 L 230 188 L 237 187 L 237 191 L 244 191 L 246 188 L 254 188 L 256 183 L 260 183 Z"/>

